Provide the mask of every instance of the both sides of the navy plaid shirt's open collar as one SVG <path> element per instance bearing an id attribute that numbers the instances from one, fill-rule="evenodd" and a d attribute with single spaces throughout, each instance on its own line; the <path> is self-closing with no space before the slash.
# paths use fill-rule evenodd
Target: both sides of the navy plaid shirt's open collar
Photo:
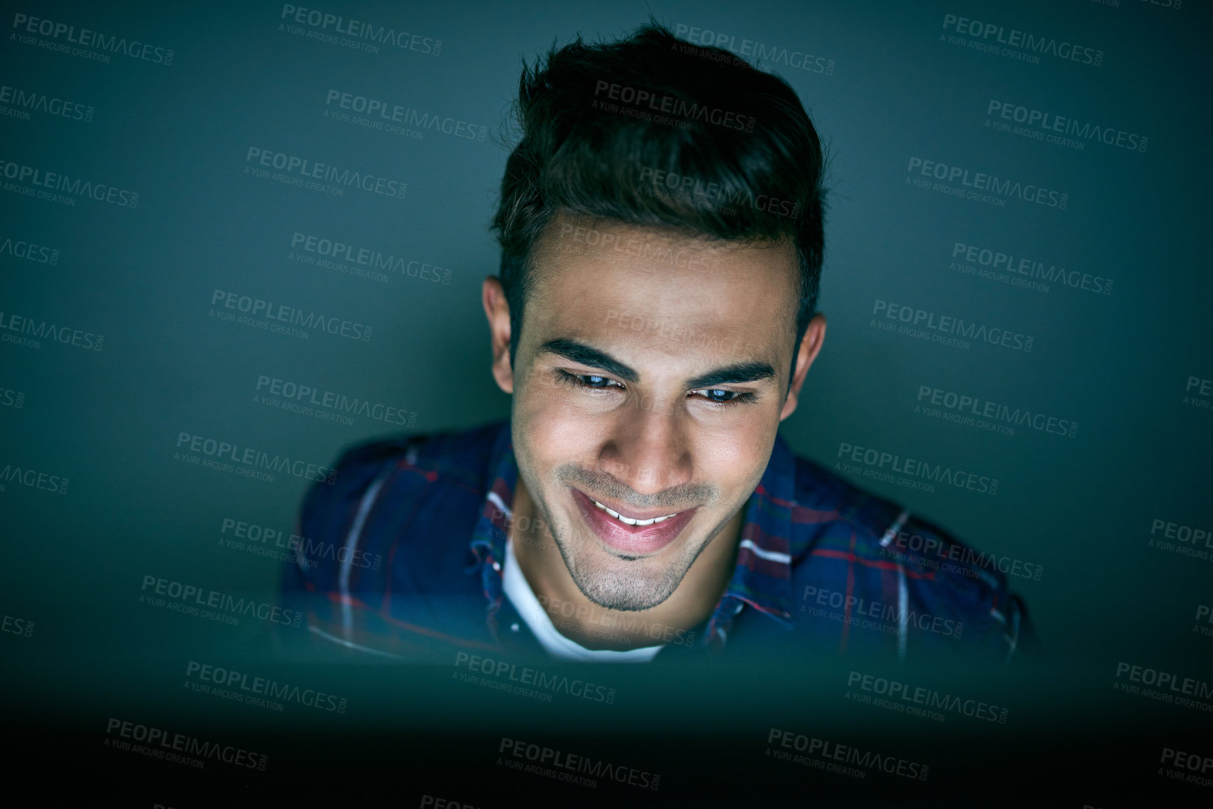
<path id="1" fill-rule="evenodd" d="M 485 596 L 501 594 L 501 568 L 513 517 L 511 508 L 518 480 L 511 425 L 505 422 L 494 443 L 485 480 L 488 494 L 472 532 L 472 552 L 485 570 Z M 796 456 L 775 437 L 762 480 L 744 507 L 738 562 L 723 598 L 740 599 L 761 613 L 791 623 L 792 613 L 792 501 L 796 490 Z M 722 600 L 723 600 L 722 598 Z"/>

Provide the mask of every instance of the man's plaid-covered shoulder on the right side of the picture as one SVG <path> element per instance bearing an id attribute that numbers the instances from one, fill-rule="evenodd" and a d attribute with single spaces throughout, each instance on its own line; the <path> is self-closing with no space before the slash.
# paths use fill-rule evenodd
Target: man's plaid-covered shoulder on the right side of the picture
<path id="1" fill-rule="evenodd" d="M 998 557 L 981 553 L 900 503 L 796 457 L 791 511 L 793 596 L 841 609 L 896 637 L 985 645 L 1009 659 L 1029 633 Z"/>

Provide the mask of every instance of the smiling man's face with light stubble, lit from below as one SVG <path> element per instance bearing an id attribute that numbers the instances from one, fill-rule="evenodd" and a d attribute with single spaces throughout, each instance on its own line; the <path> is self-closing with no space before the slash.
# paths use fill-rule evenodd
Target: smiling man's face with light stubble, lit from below
<path id="1" fill-rule="evenodd" d="M 534 281 L 519 474 L 581 592 L 650 609 L 753 492 L 795 409 L 795 249 L 557 218 Z"/>

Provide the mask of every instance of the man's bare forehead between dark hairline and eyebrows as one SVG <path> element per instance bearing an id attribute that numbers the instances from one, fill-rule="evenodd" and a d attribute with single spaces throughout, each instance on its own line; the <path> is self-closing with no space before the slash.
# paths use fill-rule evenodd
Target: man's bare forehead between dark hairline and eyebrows
<path id="1" fill-rule="evenodd" d="M 723 343 L 738 359 L 792 351 L 799 277 L 791 240 L 718 241 L 562 216 L 536 245 L 533 272 L 523 331 L 534 324 L 535 338 L 560 332 L 679 355 L 714 355 L 722 352 L 708 347 Z"/>

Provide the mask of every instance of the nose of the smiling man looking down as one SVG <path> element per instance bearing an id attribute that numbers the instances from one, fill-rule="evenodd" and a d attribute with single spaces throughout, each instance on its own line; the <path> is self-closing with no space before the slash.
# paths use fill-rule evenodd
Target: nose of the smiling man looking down
<path id="1" fill-rule="evenodd" d="M 598 452 L 602 471 L 637 494 L 654 495 L 694 475 L 687 423 L 672 403 L 640 397 L 611 425 Z"/>

